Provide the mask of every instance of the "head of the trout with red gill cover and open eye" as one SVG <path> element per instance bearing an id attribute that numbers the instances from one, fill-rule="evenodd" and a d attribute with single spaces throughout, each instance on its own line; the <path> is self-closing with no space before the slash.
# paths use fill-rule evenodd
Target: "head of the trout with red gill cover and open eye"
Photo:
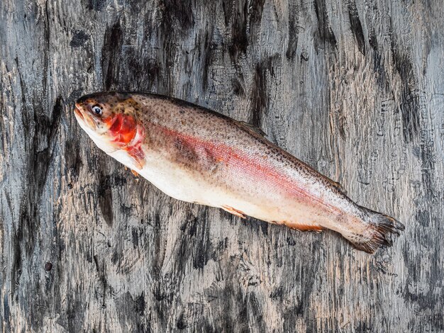
<path id="1" fill-rule="evenodd" d="M 96 145 L 111 153 L 128 147 L 135 138 L 139 109 L 131 94 L 102 92 L 79 98 L 74 115 Z"/>

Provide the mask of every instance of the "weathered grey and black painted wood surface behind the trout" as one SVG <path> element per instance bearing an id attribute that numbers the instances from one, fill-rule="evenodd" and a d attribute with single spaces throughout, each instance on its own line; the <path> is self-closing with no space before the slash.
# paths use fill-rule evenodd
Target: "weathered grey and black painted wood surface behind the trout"
<path id="1" fill-rule="evenodd" d="M 3 332 L 444 330 L 440 0 L 1 0 Z M 181 203 L 74 99 L 154 91 L 259 125 L 398 218 L 357 252 Z"/>

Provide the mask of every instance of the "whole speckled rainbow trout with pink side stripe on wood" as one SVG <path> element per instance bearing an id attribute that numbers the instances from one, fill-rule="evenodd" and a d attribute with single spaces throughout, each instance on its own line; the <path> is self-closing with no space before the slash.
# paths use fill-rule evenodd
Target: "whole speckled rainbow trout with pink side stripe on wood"
<path id="1" fill-rule="evenodd" d="M 99 149 L 179 201 L 295 230 L 333 230 L 370 254 L 404 230 L 252 125 L 208 108 L 110 91 L 82 96 L 74 115 Z"/>

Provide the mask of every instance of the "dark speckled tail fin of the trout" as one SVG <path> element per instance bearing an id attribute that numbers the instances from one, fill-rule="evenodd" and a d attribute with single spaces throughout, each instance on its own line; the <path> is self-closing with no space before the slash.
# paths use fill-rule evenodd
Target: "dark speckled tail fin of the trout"
<path id="1" fill-rule="evenodd" d="M 388 215 L 374 212 L 365 207 L 361 207 L 365 220 L 369 227 L 367 235 L 348 238 L 357 248 L 367 253 L 374 253 L 379 247 L 391 247 L 393 244 L 392 234 L 399 236 L 399 232 L 404 230 L 404 225 Z"/>

